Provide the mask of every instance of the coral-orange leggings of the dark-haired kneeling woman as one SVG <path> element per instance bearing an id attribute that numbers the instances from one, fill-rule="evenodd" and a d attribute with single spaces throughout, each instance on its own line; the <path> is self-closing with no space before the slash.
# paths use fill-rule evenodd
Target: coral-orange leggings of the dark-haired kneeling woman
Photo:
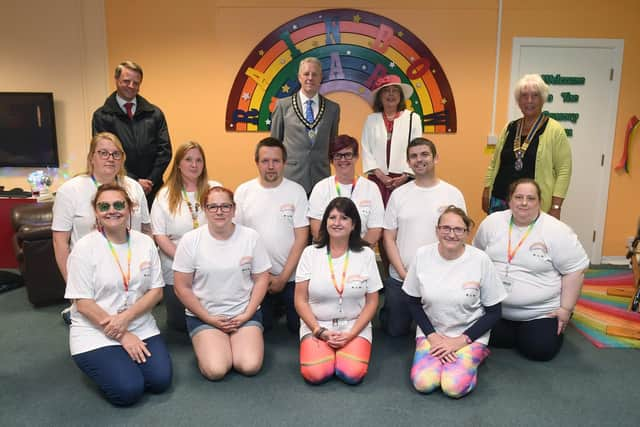
<path id="1" fill-rule="evenodd" d="M 311 384 L 320 384 L 335 374 L 347 384 L 358 384 L 367 374 L 371 343 L 362 337 L 352 339 L 341 349 L 311 335 L 300 342 L 300 373 Z"/>

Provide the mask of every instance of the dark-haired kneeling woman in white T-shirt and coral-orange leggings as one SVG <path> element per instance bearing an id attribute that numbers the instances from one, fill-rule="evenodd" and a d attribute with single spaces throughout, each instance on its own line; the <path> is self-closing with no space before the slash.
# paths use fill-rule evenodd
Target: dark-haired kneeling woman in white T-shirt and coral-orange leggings
<path id="1" fill-rule="evenodd" d="M 325 209 L 319 240 L 308 246 L 296 272 L 300 371 L 312 384 L 334 374 L 358 384 L 371 355 L 371 319 L 382 288 L 376 257 L 360 238 L 360 215 L 346 197 Z"/>

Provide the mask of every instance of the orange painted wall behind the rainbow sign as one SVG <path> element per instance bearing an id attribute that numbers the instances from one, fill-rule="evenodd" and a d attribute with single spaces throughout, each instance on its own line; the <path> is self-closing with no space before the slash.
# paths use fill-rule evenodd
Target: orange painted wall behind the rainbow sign
<path id="1" fill-rule="evenodd" d="M 440 151 L 441 177 L 458 186 L 470 214 L 482 219 L 480 193 L 489 161 L 495 67 L 497 0 L 409 1 L 389 8 L 388 2 L 316 2 L 300 8 L 292 0 L 257 1 L 109 0 L 105 2 L 109 65 L 123 59 L 145 70 L 142 94 L 167 115 L 174 146 L 194 139 L 207 148 L 211 177 L 235 188 L 255 175 L 255 143 L 266 134 L 227 133 L 227 96 L 239 67 L 255 45 L 284 22 L 313 10 L 351 7 L 369 10 L 401 23 L 420 37 L 447 73 L 458 114 L 456 134 L 433 136 Z M 588 37 L 625 40 L 614 159 L 622 151 L 626 121 L 640 114 L 640 30 L 634 17 L 640 4 L 618 0 L 542 0 L 521 6 L 505 0 L 496 131 L 507 118 L 512 37 Z M 110 82 L 111 87 L 113 83 Z M 332 94 L 342 105 L 341 133 L 359 138 L 369 106 L 350 94 Z M 637 142 L 634 145 L 637 150 Z M 625 236 L 635 232 L 640 201 L 640 154 L 632 156 L 631 175 L 611 176 L 604 256 L 622 255 Z M 635 161 L 634 161 L 635 160 Z"/>

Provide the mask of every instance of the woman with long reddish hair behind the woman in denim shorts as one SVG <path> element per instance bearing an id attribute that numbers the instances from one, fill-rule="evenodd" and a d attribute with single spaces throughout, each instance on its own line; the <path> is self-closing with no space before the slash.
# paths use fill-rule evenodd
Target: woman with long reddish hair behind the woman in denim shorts
<path id="1" fill-rule="evenodd" d="M 176 150 L 166 184 L 158 191 L 151 208 L 153 238 L 160 248 L 164 276 L 164 303 L 167 326 L 185 332 L 184 306 L 173 290 L 173 256 L 187 231 L 207 223 L 200 195 L 220 183 L 208 181 L 204 150 L 197 142 L 186 142 Z"/>

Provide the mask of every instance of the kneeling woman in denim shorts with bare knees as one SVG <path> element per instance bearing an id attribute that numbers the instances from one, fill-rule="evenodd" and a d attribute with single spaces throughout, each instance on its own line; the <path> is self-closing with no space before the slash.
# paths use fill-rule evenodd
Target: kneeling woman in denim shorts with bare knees
<path id="1" fill-rule="evenodd" d="M 255 375 L 264 342 L 260 303 L 271 262 L 258 233 L 235 225 L 233 193 L 204 194 L 207 226 L 187 232 L 173 260 L 175 292 L 186 307 L 187 330 L 200 372 L 222 379 L 231 368 Z"/>

